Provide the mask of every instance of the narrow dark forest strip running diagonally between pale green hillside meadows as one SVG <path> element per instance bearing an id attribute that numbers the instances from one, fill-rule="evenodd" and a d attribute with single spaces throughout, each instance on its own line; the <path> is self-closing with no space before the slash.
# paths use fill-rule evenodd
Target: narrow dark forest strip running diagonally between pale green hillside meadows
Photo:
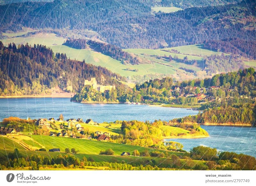
<path id="1" fill-rule="evenodd" d="M 108 55 L 111 58 L 122 61 L 124 64 L 130 63 L 132 65 L 139 64 L 139 58 L 135 55 L 125 52 L 120 47 L 116 47 L 112 44 L 96 42 L 93 40 L 86 41 L 85 39 L 67 39 L 63 45 L 75 48 L 86 49 L 88 46 L 92 50 L 96 50 L 102 54 Z"/>

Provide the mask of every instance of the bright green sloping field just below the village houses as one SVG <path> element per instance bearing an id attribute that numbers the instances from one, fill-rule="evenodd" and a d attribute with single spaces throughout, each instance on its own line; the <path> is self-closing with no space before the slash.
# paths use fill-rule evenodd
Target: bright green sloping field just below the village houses
<path id="1" fill-rule="evenodd" d="M 16 142 L 13 142 L 11 139 L 8 139 L 7 137 L 1 137 L 1 143 L 0 143 L 0 149 L 7 151 L 7 150 L 14 150 L 14 148 L 17 148 L 19 150 L 24 150 L 24 148 L 19 145 Z M 102 142 L 102 141 L 96 141 L 96 140 L 86 140 L 86 139 L 74 139 L 74 138 L 64 138 L 64 137 L 56 137 L 56 136 L 41 136 L 41 135 L 31 135 L 31 139 L 35 140 L 36 142 L 40 143 L 42 146 L 44 146 L 47 150 L 47 153 L 49 149 L 52 148 L 60 148 L 61 152 L 64 152 L 66 148 L 75 148 L 78 152 L 78 154 L 88 154 L 88 155 L 99 155 L 100 151 L 107 150 L 111 148 L 113 151 L 115 151 L 116 156 L 119 156 L 122 152 L 132 152 L 134 150 L 138 151 L 153 151 L 155 149 L 148 148 L 148 147 L 140 147 L 140 146 L 134 146 L 129 144 L 120 144 L 120 143 L 110 143 L 110 142 Z M 25 140 L 23 140 L 24 142 Z M 36 144 L 36 143 L 30 143 L 30 144 Z M 38 144 L 36 144 L 38 145 Z M 160 152 L 165 152 L 164 150 L 157 150 Z M 31 152 L 31 151 L 28 151 Z M 36 151 L 36 152 L 44 152 L 45 151 Z M 2 152 L 3 153 L 3 152 Z M 176 155 L 180 155 L 182 153 L 180 152 L 172 152 L 168 151 L 168 153 Z M 101 157 L 101 156 L 100 156 Z M 107 156 L 108 157 L 108 156 Z"/>

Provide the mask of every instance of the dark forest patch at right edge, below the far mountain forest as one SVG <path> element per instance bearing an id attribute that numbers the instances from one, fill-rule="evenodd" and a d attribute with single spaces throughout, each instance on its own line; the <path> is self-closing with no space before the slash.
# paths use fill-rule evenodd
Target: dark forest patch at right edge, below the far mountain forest
<path id="1" fill-rule="evenodd" d="M 225 40 L 206 40 L 204 47 L 209 50 L 222 51 L 256 59 L 256 41 L 242 40 L 238 38 Z"/>

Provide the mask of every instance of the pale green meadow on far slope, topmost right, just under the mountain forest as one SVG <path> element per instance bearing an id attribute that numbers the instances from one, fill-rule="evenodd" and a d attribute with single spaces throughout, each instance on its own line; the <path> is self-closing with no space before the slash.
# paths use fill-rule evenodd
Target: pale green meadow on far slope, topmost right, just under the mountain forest
<path id="1" fill-rule="evenodd" d="M 211 55 L 220 55 L 222 52 L 217 52 L 214 50 L 208 50 L 204 48 L 204 44 L 192 44 L 192 45 L 186 45 L 186 46 L 178 46 L 178 47 L 171 47 L 171 48 L 165 48 L 160 50 L 178 50 L 182 54 L 188 54 L 188 55 L 201 55 L 201 56 L 211 56 Z M 159 50 L 159 49 L 158 49 Z M 226 54 L 229 55 L 229 54 Z"/>

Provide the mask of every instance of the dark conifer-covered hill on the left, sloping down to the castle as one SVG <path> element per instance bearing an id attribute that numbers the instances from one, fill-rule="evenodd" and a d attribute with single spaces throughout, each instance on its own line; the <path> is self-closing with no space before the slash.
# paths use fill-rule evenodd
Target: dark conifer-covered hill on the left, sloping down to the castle
<path id="1" fill-rule="evenodd" d="M 43 45 L 18 45 L 5 47 L 0 42 L 0 95 L 39 95 L 50 93 L 59 87 L 63 91 L 75 92 L 84 86 L 84 80 L 96 77 L 102 85 L 124 80 L 104 67 L 70 60 L 66 54 L 54 54 Z"/>

